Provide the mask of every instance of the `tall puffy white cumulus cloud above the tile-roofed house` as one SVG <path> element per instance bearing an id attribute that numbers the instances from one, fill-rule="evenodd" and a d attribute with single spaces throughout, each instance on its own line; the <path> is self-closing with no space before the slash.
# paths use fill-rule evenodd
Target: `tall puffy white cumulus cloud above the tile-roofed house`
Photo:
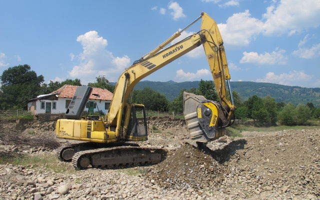
<path id="1" fill-rule="evenodd" d="M 94 30 L 79 35 L 76 40 L 81 43 L 83 51 L 76 56 L 80 63 L 73 66 L 69 76 L 80 78 L 84 84 L 97 75 L 106 75 L 108 80 L 115 81 L 129 65 L 130 58 L 127 55 L 114 56 L 106 49 L 107 40 Z"/>

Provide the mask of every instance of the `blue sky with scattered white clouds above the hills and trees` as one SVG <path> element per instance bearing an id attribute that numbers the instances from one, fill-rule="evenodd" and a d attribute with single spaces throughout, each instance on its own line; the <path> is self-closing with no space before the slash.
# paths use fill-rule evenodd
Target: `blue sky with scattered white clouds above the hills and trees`
<path id="1" fill-rule="evenodd" d="M 0 73 L 29 64 L 45 82 L 116 81 L 202 11 L 218 23 L 231 80 L 320 87 L 320 0 L 0 0 Z M 200 78 L 212 79 L 202 46 L 145 80 Z"/>

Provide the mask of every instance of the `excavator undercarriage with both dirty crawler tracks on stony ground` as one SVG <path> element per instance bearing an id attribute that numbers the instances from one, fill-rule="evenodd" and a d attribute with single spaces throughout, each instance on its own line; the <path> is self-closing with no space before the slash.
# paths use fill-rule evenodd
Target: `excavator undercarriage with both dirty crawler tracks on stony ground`
<path id="1" fill-rule="evenodd" d="M 72 162 L 75 169 L 156 164 L 166 157 L 163 148 L 141 147 L 129 142 L 74 143 L 59 147 L 56 153 L 59 160 Z"/>

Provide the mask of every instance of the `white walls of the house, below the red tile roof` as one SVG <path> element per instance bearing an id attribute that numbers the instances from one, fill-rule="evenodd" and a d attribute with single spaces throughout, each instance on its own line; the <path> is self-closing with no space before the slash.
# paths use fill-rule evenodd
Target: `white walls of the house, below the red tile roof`
<path id="1" fill-rule="evenodd" d="M 65 100 L 71 100 L 71 98 L 64 98 L 59 97 L 57 100 L 48 100 L 48 99 L 37 99 L 34 101 L 31 101 L 28 103 L 28 110 L 32 111 L 34 109 L 34 114 L 42 114 L 45 113 L 45 102 L 51 102 L 51 114 L 58 114 L 58 113 L 65 113 Z M 104 103 L 110 102 L 110 100 L 95 100 L 95 99 L 89 99 L 88 101 L 94 101 L 96 103 L 96 107 L 94 108 L 94 111 L 102 110 L 104 114 L 108 111 L 108 109 L 104 109 Z M 44 109 L 41 109 L 41 102 L 44 102 Z M 52 109 L 52 102 L 56 102 L 56 109 Z M 35 105 L 35 106 L 32 106 Z M 84 108 L 84 111 L 87 111 L 88 108 Z"/>

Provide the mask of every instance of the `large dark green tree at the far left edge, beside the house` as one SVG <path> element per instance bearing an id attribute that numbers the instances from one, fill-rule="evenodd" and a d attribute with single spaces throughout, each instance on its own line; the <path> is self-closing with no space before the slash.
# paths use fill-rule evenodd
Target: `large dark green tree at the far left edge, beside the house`
<path id="1" fill-rule="evenodd" d="M 28 64 L 5 69 L 0 76 L 1 109 L 16 109 L 25 106 L 25 100 L 41 93 L 42 75 L 37 75 Z"/>

